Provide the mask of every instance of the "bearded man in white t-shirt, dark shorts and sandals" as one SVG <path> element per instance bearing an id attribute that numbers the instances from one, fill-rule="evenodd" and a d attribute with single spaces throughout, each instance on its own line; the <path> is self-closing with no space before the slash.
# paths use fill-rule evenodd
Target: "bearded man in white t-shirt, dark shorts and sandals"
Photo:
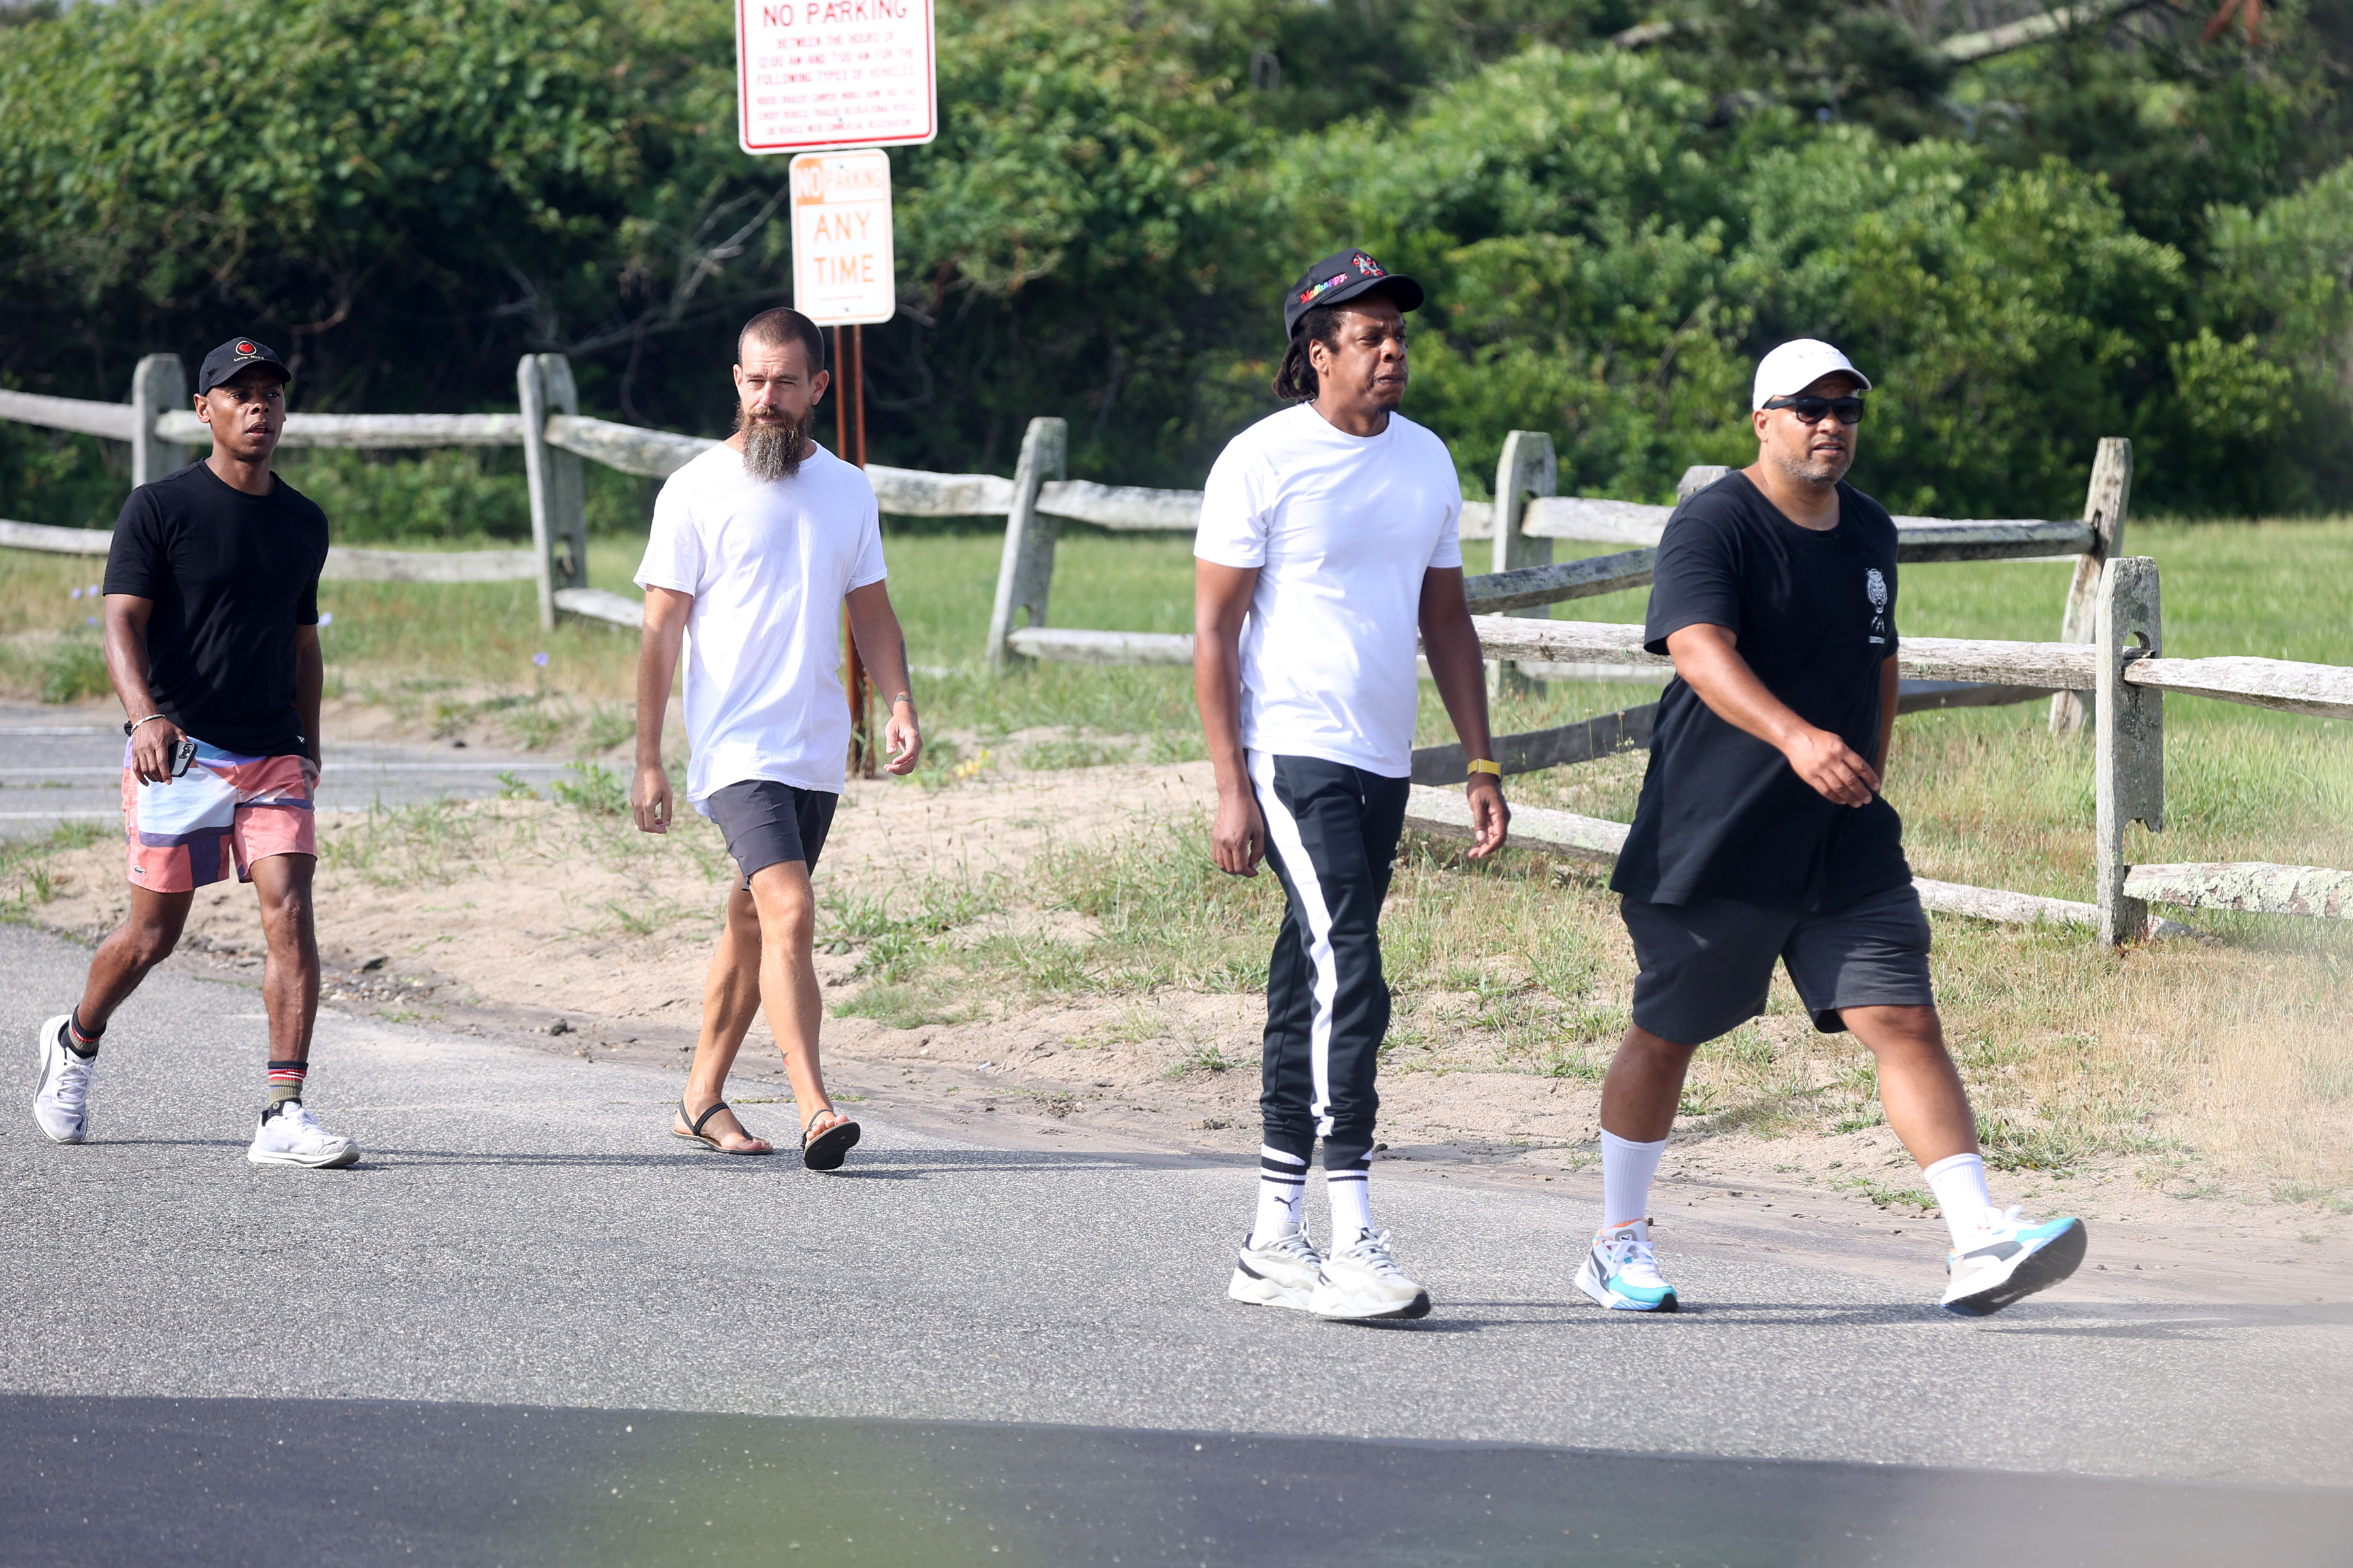
<path id="1" fill-rule="evenodd" d="M 687 665 L 687 799 L 727 835 L 744 872 L 704 980 L 704 1027 L 671 1131 L 722 1154 L 769 1154 L 727 1107 L 727 1070 L 751 1020 L 784 1051 L 800 1161 L 838 1171 L 859 1124 L 833 1110 L 816 1060 L 816 898 L 849 759 L 840 614 L 889 698 L 889 771 L 922 752 L 906 639 L 882 585 L 882 520 L 864 470 L 809 440 L 826 395 L 826 341 L 798 310 L 765 310 L 736 341 L 736 433 L 668 477 L 638 585 L 638 778 L 645 832 L 671 827 L 661 722 Z"/>

